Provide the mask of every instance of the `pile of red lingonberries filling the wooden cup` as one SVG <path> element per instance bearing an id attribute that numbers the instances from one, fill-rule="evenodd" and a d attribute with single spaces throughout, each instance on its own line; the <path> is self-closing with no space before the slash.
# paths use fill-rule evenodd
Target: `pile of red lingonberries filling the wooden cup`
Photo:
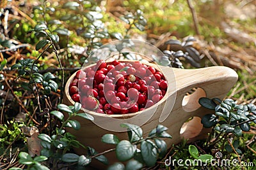
<path id="1" fill-rule="evenodd" d="M 82 107 L 97 113 L 134 113 L 153 106 L 167 90 L 163 73 L 134 62 L 105 62 L 76 72 L 69 94 Z"/>

